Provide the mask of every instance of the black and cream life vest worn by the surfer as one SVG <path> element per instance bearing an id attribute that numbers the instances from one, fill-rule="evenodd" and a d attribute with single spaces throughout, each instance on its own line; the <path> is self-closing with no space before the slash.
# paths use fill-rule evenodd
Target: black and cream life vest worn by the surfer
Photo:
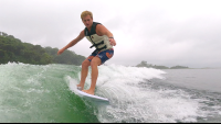
<path id="1" fill-rule="evenodd" d="M 91 32 L 88 32 L 88 29 L 85 27 L 84 34 L 86 38 L 93 44 L 90 48 L 96 47 L 95 52 L 102 52 L 109 48 L 113 48 L 113 46 L 109 43 L 109 38 L 106 35 L 99 36 L 96 34 L 96 25 L 101 24 L 97 22 L 93 22 Z"/>

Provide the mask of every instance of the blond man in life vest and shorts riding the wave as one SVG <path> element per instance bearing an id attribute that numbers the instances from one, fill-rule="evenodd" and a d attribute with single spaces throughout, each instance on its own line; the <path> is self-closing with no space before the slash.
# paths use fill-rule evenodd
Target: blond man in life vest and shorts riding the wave
<path id="1" fill-rule="evenodd" d="M 86 27 L 80 33 L 80 35 L 75 40 L 70 42 L 62 49 L 60 49 L 57 52 L 57 55 L 62 54 L 65 49 L 74 46 L 84 36 L 86 36 L 86 38 L 93 44 L 91 48 L 96 47 L 92 55 L 82 63 L 81 81 L 77 84 L 77 89 L 94 95 L 96 80 L 98 77 L 98 66 L 113 57 L 113 46 L 116 45 L 116 42 L 113 34 L 104 25 L 93 22 L 92 12 L 84 11 L 82 12 L 81 18 Z M 88 90 L 83 90 L 90 66 L 92 68 L 91 88 Z"/>

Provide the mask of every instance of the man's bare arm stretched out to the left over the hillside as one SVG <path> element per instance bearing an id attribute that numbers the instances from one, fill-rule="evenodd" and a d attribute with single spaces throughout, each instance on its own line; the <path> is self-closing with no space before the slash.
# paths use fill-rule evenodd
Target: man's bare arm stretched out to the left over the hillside
<path id="1" fill-rule="evenodd" d="M 57 55 L 60 55 L 60 54 L 62 54 L 65 49 L 67 49 L 67 48 L 70 48 L 70 47 L 72 47 L 72 46 L 74 46 L 77 42 L 80 42 L 83 37 L 84 37 L 85 35 L 84 35 L 84 30 L 80 33 L 80 35 L 75 38 L 75 40 L 73 40 L 72 42 L 70 42 L 66 46 L 64 46 L 62 49 L 60 49 L 59 52 L 57 52 Z"/>

